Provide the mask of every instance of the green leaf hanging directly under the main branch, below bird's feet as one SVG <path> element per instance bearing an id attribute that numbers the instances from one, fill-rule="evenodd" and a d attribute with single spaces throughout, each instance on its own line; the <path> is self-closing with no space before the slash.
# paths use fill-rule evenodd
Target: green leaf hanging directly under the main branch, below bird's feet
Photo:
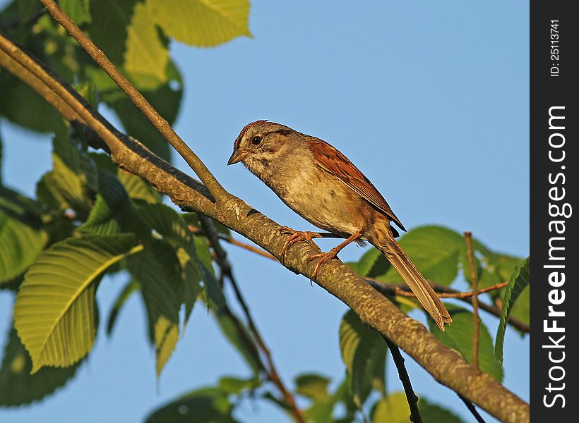
<path id="1" fill-rule="evenodd" d="M 340 324 L 340 351 L 351 382 L 354 401 L 362 405 L 372 388 L 386 394 L 385 363 L 386 343 L 383 338 L 364 326 L 352 310 Z"/>

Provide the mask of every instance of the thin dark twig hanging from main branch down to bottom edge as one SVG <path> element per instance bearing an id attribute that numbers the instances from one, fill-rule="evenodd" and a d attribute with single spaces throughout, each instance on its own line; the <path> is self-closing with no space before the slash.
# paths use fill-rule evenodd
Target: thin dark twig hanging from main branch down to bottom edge
<path id="1" fill-rule="evenodd" d="M 239 302 L 239 305 L 241 305 L 241 309 L 243 309 L 244 311 L 245 317 L 247 319 L 247 324 L 249 326 L 249 330 L 253 334 L 253 337 L 255 338 L 256 343 L 258 347 L 261 349 L 263 355 L 265 355 L 265 360 L 268 363 L 268 366 L 266 367 L 268 379 L 270 379 L 270 381 L 272 381 L 273 384 L 275 384 L 275 386 L 277 386 L 277 388 L 280 390 L 285 400 L 285 403 L 287 403 L 287 405 L 290 407 L 290 410 L 292 410 L 296 421 L 299 423 L 304 423 L 305 422 L 304 416 L 297 407 L 297 404 L 294 400 L 294 397 L 292 396 L 292 393 L 290 393 L 290 391 L 285 387 L 280 375 L 277 373 L 277 369 L 273 362 L 271 352 L 267 347 L 267 345 L 265 345 L 265 342 L 261 337 L 261 333 L 258 331 L 257 326 L 253 321 L 253 318 L 251 317 L 249 307 L 247 306 L 247 303 L 245 302 L 243 295 L 241 295 L 241 290 L 239 290 L 237 281 L 233 276 L 232 266 L 229 263 L 229 260 L 227 259 L 227 253 L 225 252 L 225 250 L 223 250 L 221 244 L 219 243 L 220 238 L 217 234 L 217 231 L 215 231 L 215 226 L 213 226 L 213 222 L 208 217 L 203 216 L 203 214 L 198 214 L 197 216 L 199 219 L 199 223 L 201 224 L 203 234 L 207 237 L 207 239 L 209 240 L 209 244 L 213 248 L 213 252 L 215 253 L 216 259 L 215 261 L 217 262 L 217 265 L 220 266 L 222 274 L 229 279 L 229 282 L 231 282 L 237 301 Z"/>

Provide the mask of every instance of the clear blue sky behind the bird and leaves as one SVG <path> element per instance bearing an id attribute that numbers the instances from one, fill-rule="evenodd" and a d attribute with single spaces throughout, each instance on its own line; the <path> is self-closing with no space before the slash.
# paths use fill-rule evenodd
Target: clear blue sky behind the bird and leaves
<path id="1" fill-rule="evenodd" d="M 226 166 L 239 130 L 258 118 L 338 147 L 407 228 L 434 223 L 472 231 L 493 250 L 526 256 L 528 25 L 527 2 L 253 1 L 252 39 L 215 49 L 173 44 L 186 90 L 175 128 L 227 190 L 292 228 L 312 227 L 243 166 Z M 50 167 L 49 136 L 6 121 L 0 130 L 4 183 L 31 195 Z M 188 171 L 180 159 L 175 163 Z M 327 250 L 334 243 L 320 245 Z M 348 247 L 340 257 L 354 260 L 363 251 Z M 338 326 L 345 306 L 275 262 L 234 247 L 228 252 L 287 385 L 303 372 L 340 381 Z M 122 278 L 101 284 L 101 316 L 123 285 Z M 1 345 L 11 301 L 0 292 Z M 412 316 L 424 321 L 419 312 Z M 174 396 L 215 384 L 219 376 L 249 374 L 199 306 L 156 381 L 144 317 L 138 298 L 131 298 L 112 338 L 100 327 L 76 379 L 42 403 L 0 410 L 1 421 L 138 422 Z M 484 321 L 494 333 L 497 320 Z M 504 383 L 526 400 L 528 347 L 528 337 L 521 341 L 507 332 Z M 400 391 L 392 363 L 387 367 L 388 388 Z M 419 396 L 472 421 L 452 391 L 411 359 L 407 367 Z M 237 416 L 289 422 L 263 403 L 246 403 Z"/>

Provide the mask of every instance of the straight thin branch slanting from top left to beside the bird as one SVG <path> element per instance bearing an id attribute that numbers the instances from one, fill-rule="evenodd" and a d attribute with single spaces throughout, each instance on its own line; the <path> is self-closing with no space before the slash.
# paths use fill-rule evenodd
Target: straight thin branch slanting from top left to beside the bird
<path id="1" fill-rule="evenodd" d="M 153 106 L 145 99 L 143 94 L 139 92 L 128 79 L 120 73 L 116 66 L 107 58 L 104 51 L 100 50 L 80 28 L 74 23 L 71 18 L 68 18 L 66 13 L 59 8 L 53 0 L 40 0 L 47 8 L 54 20 L 64 27 L 66 31 L 80 44 L 80 47 L 88 53 L 90 57 L 102 68 L 103 71 L 119 85 L 121 90 L 125 92 L 131 102 L 135 104 L 143 114 L 149 119 L 150 123 L 155 125 L 155 128 L 165 137 L 181 157 L 189 164 L 189 167 L 201 178 L 201 182 L 205 184 L 211 195 L 215 200 L 226 200 L 232 197 L 229 192 L 221 186 L 209 169 L 203 164 L 203 161 L 185 144 L 181 137 L 173 130 L 171 125 L 163 118 Z"/>

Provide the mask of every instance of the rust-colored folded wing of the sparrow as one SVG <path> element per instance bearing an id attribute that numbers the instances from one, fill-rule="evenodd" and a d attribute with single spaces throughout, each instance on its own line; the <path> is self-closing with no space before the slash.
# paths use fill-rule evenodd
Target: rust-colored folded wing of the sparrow
<path id="1" fill-rule="evenodd" d="M 342 183 L 345 183 L 351 190 L 376 207 L 376 209 L 386 214 L 388 219 L 396 223 L 402 231 L 406 231 L 381 193 L 376 190 L 376 187 L 364 176 L 364 173 L 359 171 L 344 154 L 318 138 L 309 139 L 308 145 L 312 154 L 314 154 L 314 161 L 318 166 L 328 173 L 331 173 Z"/>

